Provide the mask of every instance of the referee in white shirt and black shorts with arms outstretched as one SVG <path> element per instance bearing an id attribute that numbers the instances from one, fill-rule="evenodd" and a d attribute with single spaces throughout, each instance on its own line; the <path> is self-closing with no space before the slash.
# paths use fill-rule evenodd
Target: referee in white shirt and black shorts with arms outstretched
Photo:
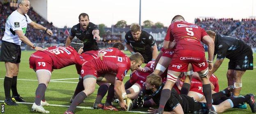
<path id="1" fill-rule="evenodd" d="M 27 24 L 35 29 L 43 30 L 48 35 L 53 35 L 52 31 L 40 24 L 32 22 L 27 15 L 30 9 L 28 0 L 18 0 L 18 8 L 9 15 L 5 24 L 5 35 L 2 37 L 2 48 L 0 52 L 0 61 L 5 61 L 6 76 L 4 80 L 5 88 L 5 104 L 18 105 L 11 99 L 18 102 L 26 102 L 17 92 L 17 76 L 19 64 L 21 62 L 21 42 L 25 42 L 28 46 L 35 50 L 43 50 L 43 48 L 33 44 L 25 36 Z"/>

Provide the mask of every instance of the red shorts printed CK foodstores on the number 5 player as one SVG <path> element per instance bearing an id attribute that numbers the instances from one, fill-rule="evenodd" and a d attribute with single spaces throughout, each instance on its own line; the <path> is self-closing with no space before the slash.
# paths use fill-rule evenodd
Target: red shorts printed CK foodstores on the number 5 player
<path id="1" fill-rule="evenodd" d="M 168 70 L 187 72 L 188 64 L 192 65 L 194 72 L 199 72 L 208 68 L 204 52 L 195 50 L 177 50 L 174 53 Z"/>

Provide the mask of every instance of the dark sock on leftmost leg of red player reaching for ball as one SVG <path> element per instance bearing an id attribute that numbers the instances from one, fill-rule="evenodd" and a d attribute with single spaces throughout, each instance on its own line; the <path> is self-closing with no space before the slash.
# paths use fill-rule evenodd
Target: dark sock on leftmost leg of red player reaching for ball
<path id="1" fill-rule="evenodd" d="M 80 103 L 82 103 L 82 101 L 84 101 L 84 99 L 87 97 L 87 95 L 85 94 L 85 92 L 79 92 L 76 96 L 74 101 L 71 103 L 70 107 L 68 110 L 70 111 L 75 111 L 75 107 L 77 107 Z"/>

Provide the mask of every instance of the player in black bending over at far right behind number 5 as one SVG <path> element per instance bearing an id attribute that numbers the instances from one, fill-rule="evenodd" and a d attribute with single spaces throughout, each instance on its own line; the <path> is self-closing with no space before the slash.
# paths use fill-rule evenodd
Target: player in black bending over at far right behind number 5
<path id="1" fill-rule="evenodd" d="M 233 85 L 235 88 L 234 96 L 239 96 L 242 89 L 242 75 L 246 70 L 253 70 L 254 68 L 251 47 L 235 37 L 219 35 L 214 31 L 206 32 L 213 38 L 215 44 L 214 55 L 217 55 L 213 70 L 209 73 L 214 73 L 222 64 L 224 58 L 228 58 L 228 85 Z"/>

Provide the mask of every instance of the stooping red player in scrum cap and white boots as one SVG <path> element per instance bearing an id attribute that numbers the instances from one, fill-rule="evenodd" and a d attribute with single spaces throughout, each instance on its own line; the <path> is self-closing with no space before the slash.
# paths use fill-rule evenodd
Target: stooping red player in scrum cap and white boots
<path id="1" fill-rule="evenodd" d="M 30 56 L 30 68 L 33 68 L 37 74 L 38 87 L 36 90 L 35 102 L 32 110 L 49 113 L 44 110 L 43 106 L 49 105 L 45 101 L 45 92 L 50 82 L 51 72 L 53 69 L 60 69 L 73 64 L 82 66 L 85 63 L 80 54 L 84 44 L 79 39 L 73 39 L 68 47 L 53 46 L 43 51 L 37 51 Z"/>

